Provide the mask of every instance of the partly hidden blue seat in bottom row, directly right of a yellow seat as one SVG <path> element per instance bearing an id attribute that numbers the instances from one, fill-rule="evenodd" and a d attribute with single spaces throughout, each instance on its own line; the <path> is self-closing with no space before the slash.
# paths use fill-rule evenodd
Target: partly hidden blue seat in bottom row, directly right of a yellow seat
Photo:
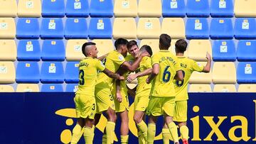
<path id="1" fill-rule="evenodd" d="M 63 92 L 63 84 L 42 84 L 41 92 Z"/>

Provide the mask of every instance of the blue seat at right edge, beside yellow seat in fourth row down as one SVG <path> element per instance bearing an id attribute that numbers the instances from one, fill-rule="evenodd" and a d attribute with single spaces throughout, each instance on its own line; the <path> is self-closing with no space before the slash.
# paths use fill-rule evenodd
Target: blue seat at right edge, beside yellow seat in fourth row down
<path id="1" fill-rule="evenodd" d="M 238 84 L 256 84 L 256 62 L 238 62 Z"/>

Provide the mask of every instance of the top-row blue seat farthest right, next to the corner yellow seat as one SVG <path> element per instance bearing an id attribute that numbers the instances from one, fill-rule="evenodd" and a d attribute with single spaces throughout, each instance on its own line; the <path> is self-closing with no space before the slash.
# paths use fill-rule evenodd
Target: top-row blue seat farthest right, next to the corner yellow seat
<path id="1" fill-rule="evenodd" d="M 234 16 L 233 0 L 210 1 L 210 16 L 212 17 L 228 17 Z"/>

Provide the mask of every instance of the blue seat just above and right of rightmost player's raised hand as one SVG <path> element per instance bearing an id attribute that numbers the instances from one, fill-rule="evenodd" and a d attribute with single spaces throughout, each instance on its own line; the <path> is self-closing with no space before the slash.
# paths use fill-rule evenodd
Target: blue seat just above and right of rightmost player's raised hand
<path id="1" fill-rule="evenodd" d="M 213 61 L 223 62 L 236 60 L 235 43 L 233 40 L 214 40 L 213 41 Z"/>

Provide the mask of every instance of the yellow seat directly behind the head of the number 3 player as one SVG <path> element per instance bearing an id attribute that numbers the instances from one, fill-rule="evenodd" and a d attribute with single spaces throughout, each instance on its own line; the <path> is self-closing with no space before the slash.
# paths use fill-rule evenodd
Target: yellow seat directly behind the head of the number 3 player
<path id="1" fill-rule="evenodd" d="M 82 54 L 82 45 L 86 43 L 87 40 L 68 40 L 66 45 L 66 60 L 68 61 L 80 61 L 85 58 Z"/>

